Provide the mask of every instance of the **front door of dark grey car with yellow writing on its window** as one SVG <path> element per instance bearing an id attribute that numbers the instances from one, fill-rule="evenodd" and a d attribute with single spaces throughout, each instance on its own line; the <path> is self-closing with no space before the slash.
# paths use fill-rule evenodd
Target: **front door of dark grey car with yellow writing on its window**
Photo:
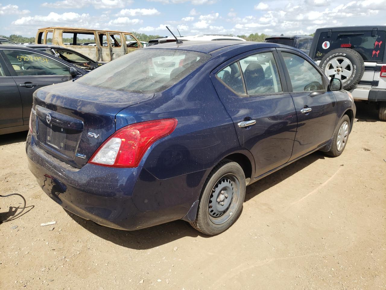
<path id="1" fill-rule="evenodd" d="M 46 85 L 71 80 L 69 67 L 39 52 L 3 49 L 2 54 L 20 92 L 23 124 L 28 125 L 32 108 L 32 94 Z"/>

